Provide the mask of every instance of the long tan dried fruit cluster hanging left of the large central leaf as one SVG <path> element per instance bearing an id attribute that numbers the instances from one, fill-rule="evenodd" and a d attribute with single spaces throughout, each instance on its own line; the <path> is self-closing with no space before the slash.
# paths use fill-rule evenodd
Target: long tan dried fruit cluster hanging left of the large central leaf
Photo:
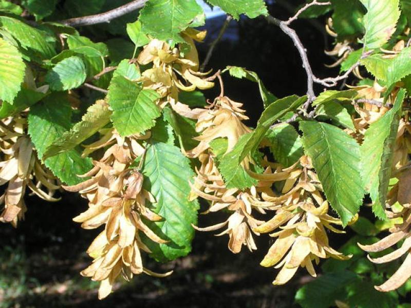
<path id="1" fill-rule="evenodd" d="M 82 177 L 91 177 L 74 186 L 64 186 L 68 191 L 79 192 L 89 201 L 89 208 L 74 221 L 82 223 L 84 229 L 104 226 L 97 238 L 87 249 L 94 260 L 81 275 L 101 281 L 99 298 L 110 294 L 116 278 L 122 274 L 127 281 L 133 275 L 157 274 L 143 267 L 140 250 L 151 253 L 141 241 L 142 232 L 156 243 L 165 243 L 144 222 L 144 219 L 158 221 L 162 218 L 146 207 L 146 201 L 155 202 L 150 192 L 142 188 L 143 176 L 132 168 L 137 158 L 143 159 L 145 149 L 140 141 L 150 137 L 133 136 L 122 138 L 114 129 L 109 129 L 104 137 L 86 147 L 88 152 L 100 148 L 105 150 L 94 168 Z"/>

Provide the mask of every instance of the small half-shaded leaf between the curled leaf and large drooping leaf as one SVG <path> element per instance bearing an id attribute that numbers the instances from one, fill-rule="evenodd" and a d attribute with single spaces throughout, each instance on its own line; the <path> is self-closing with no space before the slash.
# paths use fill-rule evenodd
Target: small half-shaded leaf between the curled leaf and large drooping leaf
<path id="1" fill-rule="evenodd" d="M 290 124 L 274 125 L 268 130 L 266 138 L 270 141 L 275 160 L 284 167 L 293 165 L 304 155 L 301 137 Z"/>

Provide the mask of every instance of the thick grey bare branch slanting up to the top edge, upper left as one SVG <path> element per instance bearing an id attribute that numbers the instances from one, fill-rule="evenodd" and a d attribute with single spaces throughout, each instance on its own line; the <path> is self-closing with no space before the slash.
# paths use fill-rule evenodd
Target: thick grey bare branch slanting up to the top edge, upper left
<path id="1" fill-rule="evenodd" d="M 70 18 L 68 20 L 60 21 L 59 23 L 70 27 L 80 27 L 109 23 L 111 20 L 114 20 L 115 18 L 121 17 L 125 14 L 141 9 L 147 1 L 148 0 L 135 0 L 105 13 Z"/>

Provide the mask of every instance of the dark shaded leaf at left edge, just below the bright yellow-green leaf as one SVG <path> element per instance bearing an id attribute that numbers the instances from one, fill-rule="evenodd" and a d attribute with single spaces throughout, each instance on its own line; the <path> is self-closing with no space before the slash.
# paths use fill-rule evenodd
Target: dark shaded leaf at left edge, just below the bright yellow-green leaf
<path id="1" fill-rule="evenodd" d="M 4 101 L 0 107 L 0 119 L 10 117 L 34 105 L 46 96 L 45 93 L 22 88 L 17 93 L 13 105 Z"/>

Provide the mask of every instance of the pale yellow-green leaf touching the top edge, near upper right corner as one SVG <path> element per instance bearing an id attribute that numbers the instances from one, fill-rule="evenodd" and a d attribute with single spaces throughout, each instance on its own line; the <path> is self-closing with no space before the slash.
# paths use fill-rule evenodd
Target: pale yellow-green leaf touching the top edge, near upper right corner
<path id="1" fill-rule="evenodd" d="M 367 9 L 363 18 L 366 50 L 377 49 L 388 42 L 400 18 L 399 0 L 360 0 Z"/>

